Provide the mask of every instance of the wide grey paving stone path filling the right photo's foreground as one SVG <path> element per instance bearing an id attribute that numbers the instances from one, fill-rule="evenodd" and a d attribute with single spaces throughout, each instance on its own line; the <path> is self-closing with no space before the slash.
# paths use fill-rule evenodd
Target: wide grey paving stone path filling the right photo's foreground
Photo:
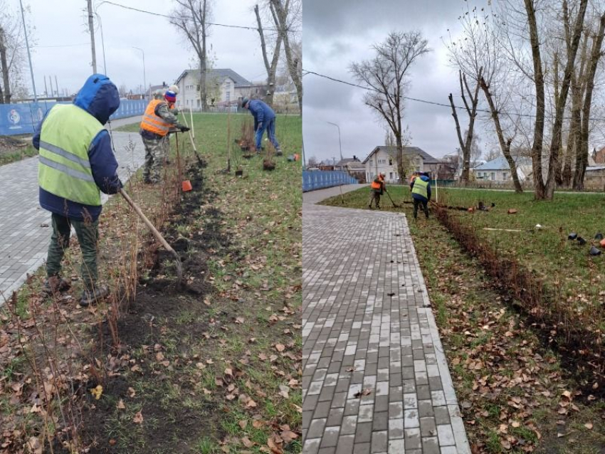
<path id="1" fill-rule="evenodd" d="M 302 452 L 470 453 L 405 215 L 337 194 L 303 196 Z"/>

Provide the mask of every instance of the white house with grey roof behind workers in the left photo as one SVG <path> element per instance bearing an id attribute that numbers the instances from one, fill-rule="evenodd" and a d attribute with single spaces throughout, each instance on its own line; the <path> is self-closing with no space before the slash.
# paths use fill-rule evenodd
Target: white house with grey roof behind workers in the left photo
<path id="1" fill-rule="evenodd" d="M 184 70 L 174 82 L 179 87 L 177 107 L 201 107 L 199 99 L 199 70 Z M 261 88 L 253 85 L 232 69 L 212 69 L 206 72 L 209 105 L 236 105 L 242 97 L 252 97 Z"/>

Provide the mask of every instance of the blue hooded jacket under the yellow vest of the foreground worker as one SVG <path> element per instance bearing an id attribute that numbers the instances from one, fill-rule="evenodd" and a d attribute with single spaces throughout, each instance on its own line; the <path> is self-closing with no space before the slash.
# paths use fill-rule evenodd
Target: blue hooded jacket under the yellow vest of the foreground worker
<path id="1" fill-rule="evenodd" d="M 120 95 L 117 88 L 106 75 L 91 75 L 75 96 L 73 103 L 93 115 L 102 125 L 107 123 L 113 112 L 120 107 Z M 52 110 L 52 109 L 51 109 Z M 50 110 L 48 111 L 50 112 Z M 48 112 L 46 114 L 48 115 Z M 46 115 L 33 134 L 33 146 L 40 149 L 40 133 Z M 115 194 L 122 188 L 117 176 L 117 161 L 111 147 L 111 138 L 107 130 L 100 131 L 88 147 L 88 160 L 93 171 L 95 183 L 105 194 Z M 40 188 L 40 205 L 52 213 L 83 221 L 89 215 L 96 221 L 102 206 L 90 206 L 64 199 Z M 88 216 L 87 216 L 88 217 Z"/>

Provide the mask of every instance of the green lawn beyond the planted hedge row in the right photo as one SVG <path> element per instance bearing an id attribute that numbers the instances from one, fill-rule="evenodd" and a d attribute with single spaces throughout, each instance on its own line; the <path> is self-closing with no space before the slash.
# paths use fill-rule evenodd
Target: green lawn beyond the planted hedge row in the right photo
<path id="1" fill-rule="evenodd" d="M 389 193 L 397 204 L 411 201 L 407 187 L 389 186 Z M 344 198 L 349 206 L 367 208 L 369 189 L 345 194 Z M 593 240 L 595 234 L 605 235 L 605 194 L 557 193 L 553 201 L 535 201 L 528 192 L 438 189 L 438 200 L 440 204 L 461 207 L 476 207 L 480 201 L 488 207 L 495 204 L 490 211 L 450 210 L 450 215 L 473 228 L 503 257 L 515 257 L 527 270 L 557 290 L 557 294 L 560 291 L 562 301 L 573 305 L 578 312 L 592 312 L 605 303 L 605 254 L 589 255 L 591 243 L 598 245 L 598 241 Z M 387 196 L 383 196 L 381 205 L 391 206 Z M 515 208 L 517 213 L 508 214 L 509 208 Z M 541 228 L 536 228 L 537 224 Z M 571 232 L 586 239 L 586 244 L 579 246 L 577 241 L 568 241 Z M 599 323 L 605 330 L 602 319 Z"/>

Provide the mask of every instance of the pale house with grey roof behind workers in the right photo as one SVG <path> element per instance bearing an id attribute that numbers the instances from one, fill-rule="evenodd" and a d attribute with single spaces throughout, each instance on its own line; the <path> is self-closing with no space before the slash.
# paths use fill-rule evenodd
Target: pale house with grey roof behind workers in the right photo
<path id="1" fill-rule="evenodd" d="M 379 145 L 362 162 L 365 166 L 366 181 L 372 181 L 374 176 L 380 172 L 384 172 L 387 183 L 398 183 L 399 174 L 397 172 L 397 147 L 386 147 Z M 411 174 L 413 171 L 426 171 L 431 174 L 436 174 L 440 167 L 441 161 L 432 157 L 419 147 L 404 147 L 404 157 L 409 163 L 406 171 Z M 404 177 L 409 176 L 406 174 Z"/>

